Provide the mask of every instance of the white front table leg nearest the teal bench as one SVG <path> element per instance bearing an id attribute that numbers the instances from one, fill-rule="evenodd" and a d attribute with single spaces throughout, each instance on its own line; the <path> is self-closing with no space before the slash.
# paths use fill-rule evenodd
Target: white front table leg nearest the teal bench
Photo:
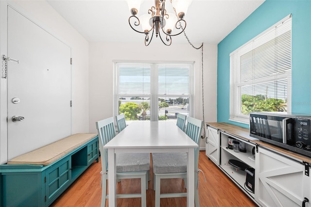
<path id="1" fill-rule="evenodd" d="M 109 207 L 117 206 L 117 176 L 116 176 L 116 154 L 114 149 L 108 149 L 108 194 Z"/>

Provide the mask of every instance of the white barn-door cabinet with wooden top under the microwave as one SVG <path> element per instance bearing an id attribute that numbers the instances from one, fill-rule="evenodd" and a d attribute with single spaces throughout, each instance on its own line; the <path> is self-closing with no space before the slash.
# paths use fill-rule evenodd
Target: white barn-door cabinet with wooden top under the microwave
<path id="1" fill-rule="evenodd" d="M 303 201 L 309 200 L 305 207 L 311 207 L 311 158 L 252 138 L 242 127 L 228 123 L 207 125 L 206 155 L 258 206 L 303 207 Z M 228 147 L 229 138 L 245 143 L 246 152 L 234 152 Z M 229 160 L 253 168 L 254 193 L 246 187 L 247 173 L 233 167 Z"/>

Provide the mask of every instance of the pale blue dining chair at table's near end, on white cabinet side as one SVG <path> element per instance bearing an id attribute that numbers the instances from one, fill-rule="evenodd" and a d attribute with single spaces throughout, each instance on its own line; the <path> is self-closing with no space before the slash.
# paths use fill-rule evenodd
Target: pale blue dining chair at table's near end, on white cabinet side
<path id="1" fill-rule="evenodd" d="M 200 146 L 203 121 L 188 117 L 185 133 Z M 195 206 L 199 207 L 198 172 L 199 172 L 200 147 L 194 150 L 194 183 L 197 184 L 194 191 Z M 183 178 L 187 179 L 187 153 L 153 153 L 155 207 L 160 206 L 160 198 L 187 197 L 187 192 L 160 193 L 161 179 Z"/>

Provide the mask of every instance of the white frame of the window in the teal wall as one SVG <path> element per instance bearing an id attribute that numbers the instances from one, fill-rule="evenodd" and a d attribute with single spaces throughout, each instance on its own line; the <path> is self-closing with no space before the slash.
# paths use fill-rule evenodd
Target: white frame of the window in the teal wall
<path id="1" fill-rule="evenodd" d="M 287 79 L 287 112 L 285 113 L 291 113 L 292 58 L 290 60 L 291 69 L 285 72 L 282 72 L 282 73 L 278 73 L 275 76 L 261 77 L 256 80 L 244 81 L 244 82 L 241 82 L 241 77 L 240 77 L 240 71 L 241 71 L 240 57 L 244 55 L 245 53 L 252 51 L 254 48 L 258 48 L 264 45 L 266 42 L 274 39 L 276 36 L 273 36 L 273 37 L 269 36 L 271 35 L 271 32 L 273 32 L 277 26 L 281 25 L 283 22 L 285 22 L 289 18 L 291 18 L 291 15 L 288 15 L 287 17 L 283 18 L 282 20 L 277 22 L 272 27 L 268 28 L 267 30 L 257 35 L 252 40 L 242 45 L 240 48 L 230 53 L 229 121 L 236 121 L 236 122 L 249 124 L 249 115 L 242 114 L 242 103 L 241 103 L 242 86 L 252 86 L 252 85 L 256 85 L 260 83 L 267 83 L 268 81 L 277 81 L 277 80 L 285 79 L 285 78 Z M 292 27 L 290 31 L 292 32 Z M 265 39 L 265 40 L 263 41 L 262 39 Z M 255 47 L 252 46 L 252 44 L 254 44 Z M 292 40 L 291 40 L 291 51 L 292 51 Z M 235 98 L 235 97 L 238 97 L 238 98 Z"/>

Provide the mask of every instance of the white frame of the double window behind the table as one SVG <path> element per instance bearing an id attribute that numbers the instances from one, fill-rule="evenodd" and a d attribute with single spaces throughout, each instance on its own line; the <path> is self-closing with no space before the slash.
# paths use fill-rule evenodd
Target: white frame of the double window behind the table
<path id="1" fill-rule="evenodd" d="M 119 69 L 118 64 L 138 64 L 138 65 L 150 65 L 150 94 L 119 94 Z M 158 67 L 163 65 L 188 65 L 189 66 L 189 94 L 188 95 L 170 95 L 169 98 L 179 98 L 179 97 L 189 97 L 189 116 L 194 114 L 194 62 L 189 61 L 128 61 L 128 60 L 118 60 L 113 61 L 113 116 L 119 115 L 119 97 L 133 97 L 133 96 L 146 96 L 150 97 L 150 121 L 158 121 L 158 98 L 163 97 L 163 94 L 158 94 Z M 156 107 L 155 107 L 156 103 Z M 130 122 L 130 121 L 128 121 Z"/>

